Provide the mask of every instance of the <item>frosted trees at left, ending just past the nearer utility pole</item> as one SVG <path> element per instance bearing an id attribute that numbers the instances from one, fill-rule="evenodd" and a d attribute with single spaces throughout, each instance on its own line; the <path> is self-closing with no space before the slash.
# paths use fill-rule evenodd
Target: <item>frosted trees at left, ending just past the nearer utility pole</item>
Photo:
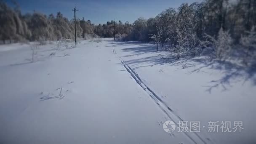
<path id="1" fill-rule="evenodd" d="M 77 23 L 77 36 L 82 35 L 80 21 Z M 81 24 L 83 26 L 83 24 Z M 34 12 L 21 15 L 19 6 L 10 8 L 0 1 L 0 39 L 5 43 L 22 40 L 58 40 L 74 38 L 74 19 L 69 21 L 60 12 L 56 16 L 46 16 Z"/>

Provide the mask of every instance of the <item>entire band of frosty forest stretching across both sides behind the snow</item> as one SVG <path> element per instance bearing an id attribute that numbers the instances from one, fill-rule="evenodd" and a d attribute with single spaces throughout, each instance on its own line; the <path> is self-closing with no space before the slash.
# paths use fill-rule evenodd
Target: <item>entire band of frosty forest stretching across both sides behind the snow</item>
<path id="1" fill-rule="evenodd" d="M 171 5 L 170 5 L 171 6 Z M 114 37 L 114 21 L 92 24 L 77 19 L 77 37 Z M 201 3 L 181 4 L 168 8 L 155 18 L 138 18 L 133 24 L 115 22 L 117 40 L 154 41 L 162 48 L 181 56 L 200 55 L 204 48 L 213 48 L 213 55 L 226 59 L 233 49 L 240 52 L 243 64 L 255 61 L 256 0 L 204 0 Z M 61 12 L 56 16 L 42 13 L 21 15 L 19 6 L 11 8 L 0 2 L 0 40 L 74 39 L 74 19 Z M 165 45 L 165 46 L 164 46 Z M 166 46 L 167 45 L 167 46 Z"/>

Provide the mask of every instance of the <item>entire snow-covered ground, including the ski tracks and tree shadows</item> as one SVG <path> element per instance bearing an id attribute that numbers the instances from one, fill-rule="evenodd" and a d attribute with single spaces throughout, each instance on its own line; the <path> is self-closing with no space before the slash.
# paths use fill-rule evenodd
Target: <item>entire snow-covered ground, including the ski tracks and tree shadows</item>
<path id="1" fill-rule="evenodd" d="M 0 143 L 256 142 L 256 80 L 239 68 L 170 61 L 154 45 L 112 39 L 42 45 L 31 62 L 31 45 L 0 45 Z M 180 121 L 199 121 L 200 132 L 179 132 Z M 208 132 L 210 121 L 219 132 Z M 221 121 L 243 129 L 221 132 Z"/>

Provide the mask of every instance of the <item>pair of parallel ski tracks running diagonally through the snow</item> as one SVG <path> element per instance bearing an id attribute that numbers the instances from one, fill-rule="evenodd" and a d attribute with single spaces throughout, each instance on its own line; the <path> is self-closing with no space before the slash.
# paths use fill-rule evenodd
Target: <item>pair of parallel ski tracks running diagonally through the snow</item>
<path id="1" fill-rule="evenodd" d="M 114 46 L 114 45 L 113 45 Z M 174 112 L 170 107 L 167 106 L 167 104 L 165 104 L 165 102 L 160 99 L 160 97 L 154 92 L 152 91 L 152 89 L 150 89 L 139 77 L 139 75 L 133 71 L 133 69 L 131 67 L 128 66 L 128 64 L 125 63 L 125 61 L 123 59 L 121 59 L 116 51 L 115 48 L 112 48 L 113 50 L 113 54 L 115 54 L 117 56 L 117 58 L 121 61 L 121 64 L 123 65 L 123 67 L 125 67 L 125 69 L 127 70 L 127 72 L 130 73 L 130 75 L 133 77 L 133 80 L 136 81 L 137 84 L 139 84 L 141 86 L 141 88 L 144 89 L 144 91 L 146 91 L 149 95 L 150 98 L 152 98 L 153 101 L 155 101 L 155 103 L 160 107 L 160 109 L 174 122 L 176 123 L 176 125 L 178 125 L 179 121 L 184 121 L 181 117 L 179 117 L 178 114 L 176 114 L 176 112 Z M 190 131 L 190 129 L 188 128 L 188 131 Z M 203 136 L 200 136 L 198 133 L 196 132 L 190 132 L 190 133 L 186 133 L 184 132 L 184 134 L 190 139 L 192 140 L 195 144 L 198 143 L 202 143 L 203 144 L 207 144 L 208 142 L 213 143 L 211 141 L 210 138 L 202 138 Z M 208 140 L 208 141 L 207 141 Z"/>

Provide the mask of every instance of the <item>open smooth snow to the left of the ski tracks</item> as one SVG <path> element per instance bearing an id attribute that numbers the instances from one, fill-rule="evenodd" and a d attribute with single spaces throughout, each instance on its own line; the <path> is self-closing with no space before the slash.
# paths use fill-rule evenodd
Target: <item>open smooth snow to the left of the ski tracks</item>
<path id="1" fill-rule="evenodd" d="M 138 84 L 111 41 L 54 53 L 54 45 L 45 45 L 33 63 L 29 47 L 20 47 L 0 53 L 0 143 L 204 143 L 163 131 L 166 107 Z"/>

